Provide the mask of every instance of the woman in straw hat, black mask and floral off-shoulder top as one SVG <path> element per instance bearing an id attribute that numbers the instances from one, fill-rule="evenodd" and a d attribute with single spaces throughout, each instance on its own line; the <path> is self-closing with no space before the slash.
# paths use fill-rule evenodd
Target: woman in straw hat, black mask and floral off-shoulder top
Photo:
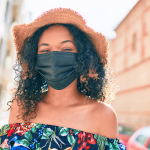
<path id="1" fill-rule="evenodd" d="M 0 147 L 125 149 L 104 103 L 112 92 L 105 37 L 65 8 L 15 26 L 13 35 L 19 79 Z"/>

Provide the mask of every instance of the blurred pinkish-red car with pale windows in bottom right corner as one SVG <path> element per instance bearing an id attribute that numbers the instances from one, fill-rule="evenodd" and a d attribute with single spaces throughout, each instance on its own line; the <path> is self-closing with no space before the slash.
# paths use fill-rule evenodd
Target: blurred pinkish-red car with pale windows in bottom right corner
<path id="1" fill-rule="evenodd" d="M 127 143 L 128 150 L 150 150 L 150 126 L 138 129 Z"/>

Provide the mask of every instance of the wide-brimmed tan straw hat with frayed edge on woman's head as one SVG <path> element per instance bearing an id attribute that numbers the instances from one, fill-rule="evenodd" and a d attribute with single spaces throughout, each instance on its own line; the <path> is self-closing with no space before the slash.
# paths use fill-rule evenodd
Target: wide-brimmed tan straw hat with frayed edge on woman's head
<path id="1" fill-rule="evenodd" d="M 89 35 L 101 57 L 103 65 L 108 64 L 108 42 L 106 37 L 88 27 L 83 17 L 69 8 L 50 9 L 29 24 L 15 25 L 13 27 L 13 37 L 16 52 L 18 53 L 21 50 L 24 40 L 31 37 L 38 28 L 54 23 L 73 24 Z"/>

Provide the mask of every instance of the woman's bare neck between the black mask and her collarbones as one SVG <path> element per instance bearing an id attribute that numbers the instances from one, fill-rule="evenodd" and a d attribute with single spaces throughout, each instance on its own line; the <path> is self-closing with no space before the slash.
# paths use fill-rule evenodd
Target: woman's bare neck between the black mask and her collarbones
<path id="1" fill-rule="evenodd" d="M 85 97 L 86 95 L 78 91 L 76 79 L 62 90 L 55 90 L 48 86 L 48 92 L 45 94 L 43 101 L 53 107 L 69 107 L 82 104 Z"/>

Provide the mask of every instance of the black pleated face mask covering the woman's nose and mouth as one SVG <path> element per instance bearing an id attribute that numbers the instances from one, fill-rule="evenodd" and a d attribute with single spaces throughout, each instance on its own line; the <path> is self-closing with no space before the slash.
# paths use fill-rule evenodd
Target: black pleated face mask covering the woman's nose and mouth
<path id="1" fill-rule="evenodd" d="M 35 70 L 56 90 L 70 85 L 78 75 L 78 53 L 53 51 L 37 55 Z"/>

